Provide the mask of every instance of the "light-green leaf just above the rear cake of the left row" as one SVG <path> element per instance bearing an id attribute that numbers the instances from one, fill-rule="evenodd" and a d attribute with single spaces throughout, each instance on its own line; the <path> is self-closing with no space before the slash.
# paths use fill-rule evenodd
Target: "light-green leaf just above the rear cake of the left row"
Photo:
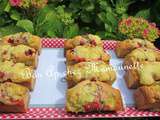
<path id="1" fill-rule="evenodd" d="M 16 25 L 20 28 L 23 28 L 27 32 L 30 33 L 34 32 L 33 23 L 30 20 L 27 19 L 19 20 Z"/>

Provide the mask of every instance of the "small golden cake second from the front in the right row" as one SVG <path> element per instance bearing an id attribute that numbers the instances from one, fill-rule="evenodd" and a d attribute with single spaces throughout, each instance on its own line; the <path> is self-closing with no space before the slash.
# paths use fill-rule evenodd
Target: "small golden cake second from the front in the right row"
<path id="1" fill-rule="evenodd" d="M 150 86 L 160 80 L 160 62 L 140 62 L 140 66 L 128 69 L 124 76 L 128 88 Z"/>

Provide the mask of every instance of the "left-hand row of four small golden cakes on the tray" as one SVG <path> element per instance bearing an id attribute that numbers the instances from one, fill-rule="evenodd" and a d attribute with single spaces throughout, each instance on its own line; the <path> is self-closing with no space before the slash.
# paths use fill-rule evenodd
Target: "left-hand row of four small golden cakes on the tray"
<path id="1" fill-rule="evenodd" d="M 34 89 L 41 39 L 16 33 L 0 39 L 0 112 L 26 112 Z"/>

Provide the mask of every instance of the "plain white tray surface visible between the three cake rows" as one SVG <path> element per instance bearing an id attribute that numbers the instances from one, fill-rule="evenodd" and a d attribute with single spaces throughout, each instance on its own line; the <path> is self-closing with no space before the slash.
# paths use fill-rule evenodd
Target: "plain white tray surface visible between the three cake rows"
<path id="1" fill-rule="evenodd" d="M 113 50 L 108 50 L 111 55 L 110 64 L 114 68 L 120 68 L 123 59 L 118 59 Z M 36 71 L 36 85 L 31 93 L 31 107 L 64 107 L 65 92 L 65 57 L 63 48 L 43 48 L 39 58 L 39 66 Z M 124 70 L 116 70 L 117 80 L 113 87 L 121 91 L 125 106 L 133 106 L 133 90 L 129 90 L 123 79 Z"/>

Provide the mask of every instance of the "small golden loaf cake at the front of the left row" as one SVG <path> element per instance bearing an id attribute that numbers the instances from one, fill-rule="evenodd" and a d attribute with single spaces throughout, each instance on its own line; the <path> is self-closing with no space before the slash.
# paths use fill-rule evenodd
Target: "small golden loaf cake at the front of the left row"
<path id="1" fill-rule="evenodd" d="M 14 83 L 0 83 L 0 112 L 27 112 L 30 94 L 26 87 Z"/>

